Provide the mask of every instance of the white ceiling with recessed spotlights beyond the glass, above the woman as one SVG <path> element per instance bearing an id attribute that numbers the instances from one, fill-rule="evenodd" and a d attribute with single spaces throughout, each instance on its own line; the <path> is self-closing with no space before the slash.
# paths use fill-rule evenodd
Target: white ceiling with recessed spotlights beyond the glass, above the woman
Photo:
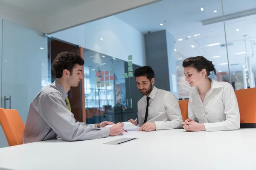
<path id="1" fill-rule="evenodd" d="M 205 10 L 200 11 L 201 7 Z M 225 15 L 233 14 L 256 8 L 256 1 L 243 0 L 237 2 L 223 0 L 223 7 Z M 214 10 L 217 10 L 217 12 L 214 13 Z M 143 34 L 148 34 L 148 31 L 155 32 L 166 29 L 175 37 L 175 48 L 177 49 L 177 53 L 175 53 L 177 59 L 176 65 L 181 65 L 182 61 L 187 57 L 202 55 L 212 60 L 218 71 L 228 71 L 228 65 L 220 65 L 221 63 L 227 62 L 226 47 L 221 47 L 220 45 L 206 46 L 213 43 L 225 44 L 223 22 L 206 26 L 201 24 L 202 20 L 222 17 L 220 0 L 182 0 L 182 3 L 180 0 L 162 0 L 117 14 L 116 17 Z M 160 23 L 163 23 L 163 26 L 160 26 Z M 230 66 L 233 75 L 234 72 L 241 71 L 242 65 L 245 62 L 245 54 L 235 55 L 235 53 L 246 51 L 244 35 L 249 35 L 246 39 L 247 43 L 250 40 L 256 40 L 256 15 L 227 20 L 225 24 L 227 42 L 233 43 L 232 46 L 228 46 L 229 62 L 230 64 L 239 64 Z M 236 31 L 237 28 L 239 28 L 239 31 Z M 201 35 L 193 37 L 194 34 L 198 33 Z M 191 38 L 188 38 L 188 36 L 191 36 Z M 178 41 L 180 38 L 183 40 Z M 195 45 L 195 48 L 192 48 L 191 45 Z M 252 48 L 250 47 L 248 49 L 248 47 L 247 55 L 251 55 Z M 253 45 L 253 49 L 256 51 L 256 45 Z M 213 56 L 221 57 L 211 58 Z M 179 58 L 182 59 L 178 60 Z M 256 56 L 253 57 L 252 62 L 253 67 L 256 67 Z"/>

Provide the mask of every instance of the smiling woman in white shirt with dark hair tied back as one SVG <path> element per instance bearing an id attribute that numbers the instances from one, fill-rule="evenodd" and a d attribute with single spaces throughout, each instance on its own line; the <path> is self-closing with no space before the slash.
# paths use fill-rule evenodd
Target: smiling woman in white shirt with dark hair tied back
<path id="1" fill-rule="evenodd" d="M 186 131 L 239 130 L 240 113 L 236 95 L 228 82 L 209 78 L 216 74 L 211 61 L 203 56 L 183 61 L 185 80 L 195 89 L 189 96 L 188 116 L 183 122 Z"/>

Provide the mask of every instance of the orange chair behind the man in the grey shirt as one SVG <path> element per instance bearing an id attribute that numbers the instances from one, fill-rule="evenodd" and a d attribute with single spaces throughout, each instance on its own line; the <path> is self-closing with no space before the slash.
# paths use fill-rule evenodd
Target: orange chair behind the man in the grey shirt
<path id="1" fill-rule="evenodd" d="M 25 125 L 17 110 L 0 108 L 0 124 L 9 146 L 23 144 Z"/>

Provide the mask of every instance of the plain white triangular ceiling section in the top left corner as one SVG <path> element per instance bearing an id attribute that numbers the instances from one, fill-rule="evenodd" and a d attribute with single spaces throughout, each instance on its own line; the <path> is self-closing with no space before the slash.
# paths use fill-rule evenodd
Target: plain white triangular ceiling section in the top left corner
<path id="1" fill-rule="evenodd" d="M 94 0 L 0 0 L 38 17 L 47 18 Z"/>

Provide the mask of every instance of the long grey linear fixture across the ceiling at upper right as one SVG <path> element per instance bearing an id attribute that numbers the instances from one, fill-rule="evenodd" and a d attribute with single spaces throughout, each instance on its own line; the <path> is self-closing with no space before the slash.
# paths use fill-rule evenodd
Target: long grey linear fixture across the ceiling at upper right
<path id="1" fill-rule="evenodd" d="M 236 19 L 236 18 L 246 17 L 246 16 L 250 16 L 250 15 L 254 15 L 254 14 L 256 14 L 256 8 L 250 9 L 250 10 L 247 10 L 247 11 L 241 11 L 241 12 L 225 15 L 224 20 L 225 21 L 233 20 L 233 19 Z M 203 26 L 213 24 L 213 23 L 219 23 L 219 22 L 223 22 L 222 16 L 221 17 L 210 18 L 210 19 L 201 21 Z"/>

